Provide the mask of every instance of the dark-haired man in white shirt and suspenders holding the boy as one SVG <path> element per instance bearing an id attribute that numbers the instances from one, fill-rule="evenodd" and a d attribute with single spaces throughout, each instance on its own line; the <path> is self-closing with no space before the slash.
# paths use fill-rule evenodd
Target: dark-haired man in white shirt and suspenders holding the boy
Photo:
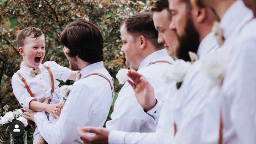
<path id="1" fill-rule="evenodd" d="M 103 67 L 103 37 L 94 24 L 71 22 L 61 34 L 61 43 L 70 68 L 81 70 L 81 79 L 70 89 L 55 124 L 43 112 L 25 112 L 25 118 L 34 118 L 46 142 L 77 144 L 82 143 L 78 126 L 103 126 L 112 103 L 113 81 Z"/>

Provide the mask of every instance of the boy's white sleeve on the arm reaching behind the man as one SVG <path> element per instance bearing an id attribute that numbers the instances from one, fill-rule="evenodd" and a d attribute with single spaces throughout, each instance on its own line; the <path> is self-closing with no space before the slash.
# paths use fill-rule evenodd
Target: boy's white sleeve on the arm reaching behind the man
<path id="1" fill-rule="evenodd" d="M 64 66 L 61 66 L 54 61 L 48 61 L 48 62 L 45 62 L 44 64 L 48 65 L 51 68 L 55 79 L 63 80 L 65 82 L 68 79 L 68 77 L 71 75 L 70 69 Z"/>

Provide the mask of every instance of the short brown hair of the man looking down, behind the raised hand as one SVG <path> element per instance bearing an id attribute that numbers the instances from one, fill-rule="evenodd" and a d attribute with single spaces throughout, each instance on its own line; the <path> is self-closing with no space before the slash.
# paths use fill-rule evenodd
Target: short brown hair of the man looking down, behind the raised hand
<path id="1" fill-rule="evenodd" d="M 133 38 L 143 35 L 156 49 L 163 48 L 163 45 L 157 42 L 158 31 L 155 29 L 151 13 L 136 13 L 124 20 L 120 27 L 123 25 Z"/>

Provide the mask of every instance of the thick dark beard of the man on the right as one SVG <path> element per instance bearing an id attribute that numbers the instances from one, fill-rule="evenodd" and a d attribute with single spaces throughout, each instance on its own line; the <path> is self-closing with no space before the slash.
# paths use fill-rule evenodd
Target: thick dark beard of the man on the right
<path id="1" fill-rule="evenodd" d="M 182 36 L 177 35 L 179 40 L 179 48 L 177 49 L 177 57 L 184 61 L 191 61 L 188 52 L 197 53 L 200 41 L 199 33 L 192 23 L 191 17 L 188 16 L 185 33 Z"/>

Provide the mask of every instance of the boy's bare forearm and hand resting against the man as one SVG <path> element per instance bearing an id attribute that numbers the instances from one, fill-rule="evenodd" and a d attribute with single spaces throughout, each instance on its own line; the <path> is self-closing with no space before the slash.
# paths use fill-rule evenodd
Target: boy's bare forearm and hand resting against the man
<path id="1" fill-rule="evenodd" d="M 30 101 L 29 103 L 29 109 L 37 112 L 46 111 L 49 114 L 51 114 L 55 119 L 56 117 L 54 114 L 60 115 L 60 109 L 59 109 L 60 106 L 61 104 L 47 104 L 47 103 L 41 103 L 34 100 Z"/>

